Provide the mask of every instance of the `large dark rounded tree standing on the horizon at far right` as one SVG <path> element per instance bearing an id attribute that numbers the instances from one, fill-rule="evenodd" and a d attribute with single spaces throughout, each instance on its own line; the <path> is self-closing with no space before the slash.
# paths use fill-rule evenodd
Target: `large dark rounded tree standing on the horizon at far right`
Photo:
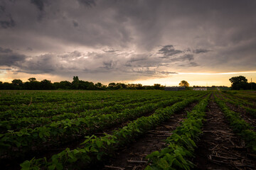
<path id="1" fill-rule="evenodd" d="M 247 79 L 243 76 L 231 77 L 229 81 L 231 82 L 231 89 L 233 90 L 247 89 Z"/>

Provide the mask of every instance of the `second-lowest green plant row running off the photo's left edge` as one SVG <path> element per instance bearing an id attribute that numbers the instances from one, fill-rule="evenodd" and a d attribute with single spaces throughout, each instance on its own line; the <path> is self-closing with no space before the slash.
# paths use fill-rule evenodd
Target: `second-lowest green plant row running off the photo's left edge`
<path id="1" fill-rule="evenodd" d="M 114 106 L 106 106 L 105 108 L 87 110 L 79 114 L 63 112 L 62 114 L 53 115 L 52 117 L 24 117 L 18 119 L 12 118 L 10 120 L 4 120 L 0 122 L 0 132 L 5 133 L 7 130 L 17 131 L 21 130 L 21 128 L 36 128 L 58 120 L 85 118 L 86 116 L 94 116 L 99 114 L 120 113 L 126 108 L 135 108 L 138 106 L 143 106 L 147 103 L 156 103 L 166 99 L 168 98 L 149 98 L 147 101 L 137 103 L 129 103 L 128 101 L 128 104 L 114 104 Z"/>

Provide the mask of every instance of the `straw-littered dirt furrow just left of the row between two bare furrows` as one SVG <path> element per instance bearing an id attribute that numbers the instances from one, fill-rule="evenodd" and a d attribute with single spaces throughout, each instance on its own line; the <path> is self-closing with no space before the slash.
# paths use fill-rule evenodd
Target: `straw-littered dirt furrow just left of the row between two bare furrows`
<path id="1" fill-rule="evenodd" d="M 116 157 L 110 159 L 110 162 L 107 162 L 102 169 L 144 169 L 147 165 L 146 155 L 166 147 L 164 140 L 171 136 L 171 132 L 180 125 L 183 118 L 186 118 L 186 111 L 191 111 L 194 106 L 196 106 L 196 103 L 192 103 L 181 113 L 174 114 L 169 120 L 149 131 L 146 135 L 137 139 L 136 142 L 120 149 Z"/>

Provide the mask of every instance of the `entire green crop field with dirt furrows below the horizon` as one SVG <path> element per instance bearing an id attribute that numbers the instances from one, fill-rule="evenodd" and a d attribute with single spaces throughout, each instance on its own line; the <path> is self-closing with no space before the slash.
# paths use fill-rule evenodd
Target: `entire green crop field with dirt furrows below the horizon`
<path id="1" fill-rule="evenodd" d="M 0 91 L 1 169 L 256 169 L 254 91 Z"/>

